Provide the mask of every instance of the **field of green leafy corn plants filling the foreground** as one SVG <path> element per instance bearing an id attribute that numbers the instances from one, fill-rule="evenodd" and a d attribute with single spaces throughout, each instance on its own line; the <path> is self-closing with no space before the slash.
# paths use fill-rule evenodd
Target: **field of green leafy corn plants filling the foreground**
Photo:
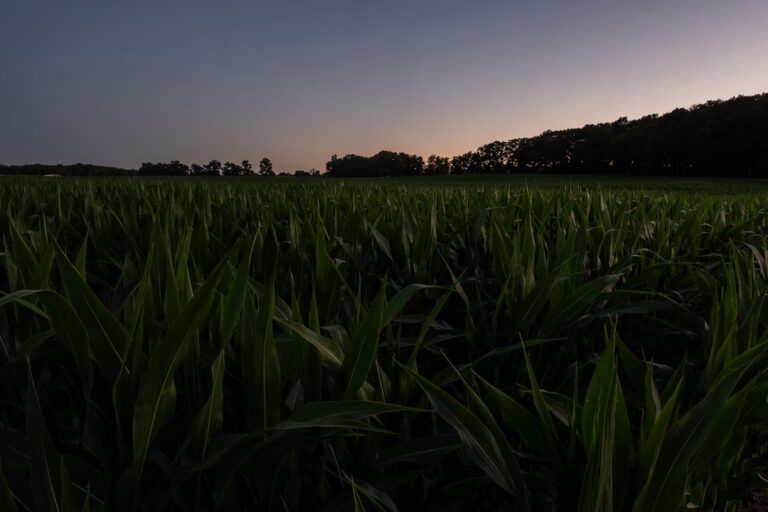
<path id="1" fill-rule="evenodd" d="M 3 179 L 0 510 L 738 510 L 768 187 L 686 187 Z"/>

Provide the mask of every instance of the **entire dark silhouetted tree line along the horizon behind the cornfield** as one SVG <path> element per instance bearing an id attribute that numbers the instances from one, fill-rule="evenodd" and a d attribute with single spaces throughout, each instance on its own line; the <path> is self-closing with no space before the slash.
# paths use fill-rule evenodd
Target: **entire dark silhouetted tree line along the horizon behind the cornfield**
<path id="1" fill-rule="evenodd" d="M 381 151 L 371 157 L 334 155 L 326 163 L 326 175 L 336 177 L 526 173 L 768 178 L 768 93 L 708 101 L 661 116 L 622 117 L 495 141 L 452 158 L 431 155 L 425 162 L 417 155 Z M 138 171 L 84 164 L 0 166 L 0 174 L 271 176 L 274 172 L 265 158 L 258 170 L 247 160 L 241 164 L 212 160 L 192 166 L 178 161 L 144 163 Z"/>

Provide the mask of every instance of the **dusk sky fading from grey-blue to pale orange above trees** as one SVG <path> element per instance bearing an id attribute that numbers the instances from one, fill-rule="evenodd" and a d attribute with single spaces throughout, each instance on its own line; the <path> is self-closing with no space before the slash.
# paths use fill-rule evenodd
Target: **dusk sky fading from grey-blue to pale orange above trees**
<path id="1" fill-rule="evenodd" d="M 0 163 L 324 168 L 768 91 L 765 0 L 0 0 Z"/>

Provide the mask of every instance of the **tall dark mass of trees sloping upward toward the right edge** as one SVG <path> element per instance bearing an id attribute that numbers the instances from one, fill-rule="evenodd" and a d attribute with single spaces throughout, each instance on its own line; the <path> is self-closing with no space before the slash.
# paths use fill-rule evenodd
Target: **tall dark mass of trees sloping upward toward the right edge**
<path id="1" fill-rule="evenodd" d="M 768 94 L 491 142 L 450 167 L 451 174 L 768 177 Z"/>

